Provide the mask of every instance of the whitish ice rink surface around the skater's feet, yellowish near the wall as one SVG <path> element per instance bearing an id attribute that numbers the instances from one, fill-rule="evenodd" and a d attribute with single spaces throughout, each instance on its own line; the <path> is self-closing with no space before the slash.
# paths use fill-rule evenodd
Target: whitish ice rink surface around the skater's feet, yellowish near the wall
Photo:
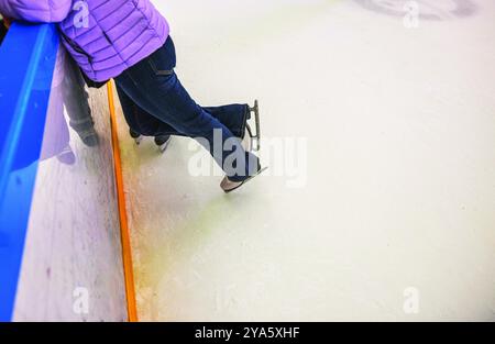
<path id="1" fill-rule="evenodd" d="M 282 148 L 226 196 L 120 119 L 141 320 L 495 320 L 494 1 L 154 2 L 193 97 Z"/>

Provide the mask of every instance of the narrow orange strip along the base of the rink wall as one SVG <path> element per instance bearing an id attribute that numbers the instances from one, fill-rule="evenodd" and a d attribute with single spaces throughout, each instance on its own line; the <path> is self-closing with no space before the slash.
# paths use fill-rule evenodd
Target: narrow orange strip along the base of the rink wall
<path id="1" fill-rule="evenodd" d="M 122 259 L 125 279 L 125 295 L 128 298 L 128 317 L 130 322 L 138 321 L 138 308 L 135 304 L 134 271 L 132 266 L 131 237 L 125 211 L 125 193 L 123 189 L 122 162 L 120 159 L 119 138 L 117 135 L 116 102 L 112 81 L 107 84 L 108 103 L 110 107 L 110 122 L 112 131 L 112 151 L 116 168 L 117 202 L 119 204 L 120 233 L 122 240 Z"/>

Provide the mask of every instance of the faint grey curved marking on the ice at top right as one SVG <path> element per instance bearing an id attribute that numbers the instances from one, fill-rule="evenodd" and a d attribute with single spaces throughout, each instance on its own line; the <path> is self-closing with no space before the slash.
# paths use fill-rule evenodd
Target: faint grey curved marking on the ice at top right
<path id="1" fill-rule="evenodd" d="M 415 3 L 419 19 L 444 21 L 468 18 L 476 13 L 477 5 L 472 0 L 354 0 L 361 7 L 393 16 L 407 14 L 407 7 Z"/>

